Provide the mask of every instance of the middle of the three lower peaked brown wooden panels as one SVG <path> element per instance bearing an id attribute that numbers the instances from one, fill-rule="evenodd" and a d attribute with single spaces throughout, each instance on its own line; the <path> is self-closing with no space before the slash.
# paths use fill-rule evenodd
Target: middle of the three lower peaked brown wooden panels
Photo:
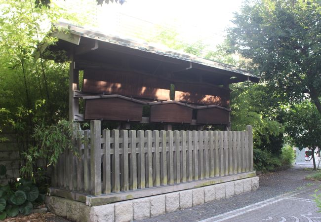
<path id="1" fill-rule="evenodd" d="M 191 123 L 191 108 L 178 104 L 159 104 L 151 106 L 151 122 Z"/>

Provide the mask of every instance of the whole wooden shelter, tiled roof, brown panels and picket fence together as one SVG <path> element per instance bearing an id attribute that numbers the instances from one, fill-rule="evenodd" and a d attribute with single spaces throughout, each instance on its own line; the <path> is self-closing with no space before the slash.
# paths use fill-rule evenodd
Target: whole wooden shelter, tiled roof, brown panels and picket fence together
<path id="1" fill-rule="evenodd" d="M 91 121 L 90 130 L 79 131 L 84 140 L 75 141 L 79 156 L 65 149 L 53 167 L 49 195 L 82 202 L 81 206 L 110 207 L 113 202 L 203 186 L 221 187 L 225 195 L 228 185 L 234 193 L 233 181 L 244 192 L 251 190 L 252 127 L 201 128 L 217 124 L 229 129 L 229 84 L 258 82 L 258 77 L 146 43 L 64 23 L 56 27 L 51 35 L 58 38 L 57 44 L 41 46 L 41 55 L 71 61 L 70 120 Z M 145 108 L 148 116 L 143 116 Z M 125 123 L 126 129 L 130 122 L 164 123 L 166 130 L 102 129 L 100 120 Z M 200 127 L 172 131 L 171 124 Z M 198 190 L 205 195 L 204 189 Z M 60 200 L 53 198 L 53 205 L 55 201 Z"/>

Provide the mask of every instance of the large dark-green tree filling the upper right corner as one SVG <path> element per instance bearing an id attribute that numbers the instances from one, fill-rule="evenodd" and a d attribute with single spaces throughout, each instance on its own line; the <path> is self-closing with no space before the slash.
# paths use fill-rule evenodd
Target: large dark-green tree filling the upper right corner
<path id="1" fill-rule="evenodd" d="M 311 98 L 321 113 L 320 21 L 320 0 L 248 0 L 228 42 L 281 98 Z"/>

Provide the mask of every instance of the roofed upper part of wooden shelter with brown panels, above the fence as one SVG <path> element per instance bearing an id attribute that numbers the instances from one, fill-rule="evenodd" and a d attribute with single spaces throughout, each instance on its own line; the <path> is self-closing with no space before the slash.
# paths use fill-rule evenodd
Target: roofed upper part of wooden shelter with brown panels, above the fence
<path id="1" fill-rule="evenodd" d="M 40 51 L 57 61 L 67 54 L 71 61 L 70 120 L 228 127 L 229 84 L 259 81 L 245 71 L 192 55 L 65 23 L 56 28 L 51 35 L 58 38 L 57 44 L 44 45 Z M 144 106 L 150 106 L 150 116 L 143 116 Z"/>

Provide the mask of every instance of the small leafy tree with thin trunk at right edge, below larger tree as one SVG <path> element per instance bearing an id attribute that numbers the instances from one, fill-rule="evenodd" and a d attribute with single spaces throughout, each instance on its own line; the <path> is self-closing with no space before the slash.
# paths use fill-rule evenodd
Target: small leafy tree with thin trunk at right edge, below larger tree
<path id="1" fill-rule="evenodd" d="M 285 130 L 291 141 L 300 150 L 312 151 L 313 169 L 316 170 L 314 151 L 321 147 L 321 114 L 309 100 L 293 106 L 284 107 Z"/>

